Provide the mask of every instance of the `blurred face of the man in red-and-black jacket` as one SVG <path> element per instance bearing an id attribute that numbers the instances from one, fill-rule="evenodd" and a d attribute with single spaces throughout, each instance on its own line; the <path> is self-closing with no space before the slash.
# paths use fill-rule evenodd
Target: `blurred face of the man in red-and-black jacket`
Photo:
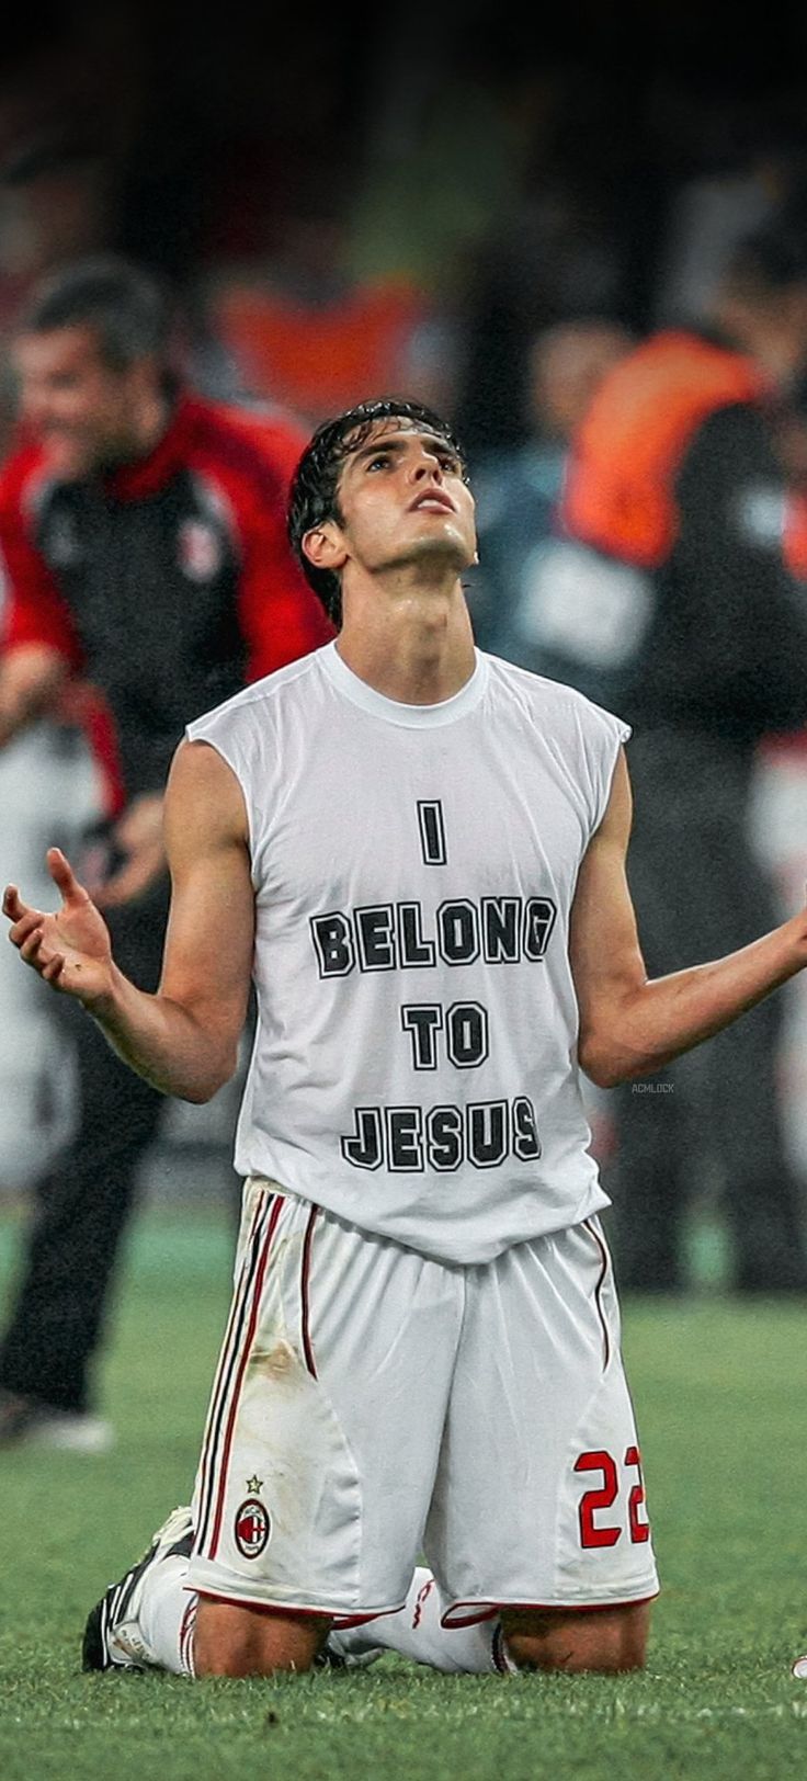
<path id="1" fill-rule="evenodd" d="M 80 481 L 135 452 L 137 367 L 110 370 L 91 326 L 21 335 L 14 369 L 20 417 L 61 481 Z"/>

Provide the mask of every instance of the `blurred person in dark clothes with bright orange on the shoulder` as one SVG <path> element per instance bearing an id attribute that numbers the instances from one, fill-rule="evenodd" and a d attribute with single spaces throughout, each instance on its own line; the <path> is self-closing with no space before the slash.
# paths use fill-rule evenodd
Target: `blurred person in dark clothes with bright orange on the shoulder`
<path id="1" fill-rule="evenodd" d="M 750 842 L 759 744 L 807 721 L 807 609 L 784 556 L 777 404 L 807 358 L 807 232 L 734 249 L 713 331 L 666 329 L 602 381 L 533 590 L 531 666 L 634 727 L 629 876 L 650 976 L 780 919 Z M 741 1291 L 807 1289 L 782 1133 L 782 997 L 707 1053 L 615 1090 L 604 1168 L 622 1286 L 684 1284 L 686 1216 L 716 1175 Z"/>

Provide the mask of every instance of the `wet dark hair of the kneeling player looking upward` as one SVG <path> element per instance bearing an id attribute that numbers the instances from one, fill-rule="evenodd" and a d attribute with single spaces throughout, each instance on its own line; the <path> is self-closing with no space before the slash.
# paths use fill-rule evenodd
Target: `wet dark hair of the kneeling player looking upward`
<path id="1" fill-rule="evenodd" d="M 467 479 L 465 452 L 449 422 L 422 403 L 408 403 L 394 395 L 378 397 L 376 401 L 346 408 L 333 420 L 322 420 L 294 472 L 289 497 L 289 540 L 308 584 L 337 629 L 342 623 L 340 575 L 335 570 L 317 568 L 310 563 L 303 550 L 303 538 L 314 525 L 322 525 L 324 520 L 337 520 L 337 525 L 342 525 L 338 508 L 342 467 L 355 451 L 362 449 L 378 420 L 413 420 L 424 431 L 433 433 L 435 438 L 445 440 L 460 458 L 463 477 Z"/>

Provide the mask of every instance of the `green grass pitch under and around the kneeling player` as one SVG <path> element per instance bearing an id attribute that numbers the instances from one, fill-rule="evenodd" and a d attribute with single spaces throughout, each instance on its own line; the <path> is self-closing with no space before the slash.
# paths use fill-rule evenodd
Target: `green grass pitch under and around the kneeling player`
<path id="1" fill-rule="evenodd" d="M 663 1576 L 645 1674 L 82 1676 L 87 1608 L 187 1500 L 230 1241 L 214 1211 L 148 1209 L 103 1368 L 116 1450 L 0 1460 L 0 1781 L 807 1774 L 805 1307 L 714 1291 L 624 1305 Z"/>

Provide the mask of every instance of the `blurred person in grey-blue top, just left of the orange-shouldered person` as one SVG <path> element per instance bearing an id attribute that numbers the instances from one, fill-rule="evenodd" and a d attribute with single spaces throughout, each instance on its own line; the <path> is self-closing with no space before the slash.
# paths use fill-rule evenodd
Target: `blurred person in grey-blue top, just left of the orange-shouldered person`
<path id="1" fill-rule="evenodd" d="M 527 379 L 531 436 L 476 465 L 479 568 L 469 590 L 477 643 L 531 664 L 531 590 L 556 533 L 570 440 L 606 372 L 632 335 L 606 315 L 543 328 L 533 340 Z"/>

